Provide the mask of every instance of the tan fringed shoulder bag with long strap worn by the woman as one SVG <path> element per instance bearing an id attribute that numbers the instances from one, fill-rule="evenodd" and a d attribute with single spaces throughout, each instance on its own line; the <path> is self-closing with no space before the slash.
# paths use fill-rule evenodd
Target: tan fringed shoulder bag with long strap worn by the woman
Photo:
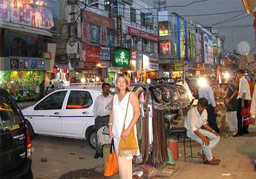
<path id="1" fill-rule="evenodd" d="M 126 120 L 126 116 L 127 116 L 127 110 L 128 110 L 128 106 L 129 106 L 130 97 L 131 97 L 131 93 L 129 94 L 129 99 L 128 99 L 128 102 L 127 102 L 127 108 L 126 108 L 124 126 L 122 128 L 122 133 L 125 131 L 125 120 Z M 127 138 L 126 139 L 123 139 L 123 138 L 120 139 L 119 146 L 118 146 L 118 156 L 119 157 L 130 157 L 130 156 L 137 155 L 138 144 L 137 144 L 137 141 L 136 141 L 135 137 L 136 136 L 134 134 L 134 127 L 132 127 L 132 130 L 129 133 L 129 135 L 127 136 Z"/>

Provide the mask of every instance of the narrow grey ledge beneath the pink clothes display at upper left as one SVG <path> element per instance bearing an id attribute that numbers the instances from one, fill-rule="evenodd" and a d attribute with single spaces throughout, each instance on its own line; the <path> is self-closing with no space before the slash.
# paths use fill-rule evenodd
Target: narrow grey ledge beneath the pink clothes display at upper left
<path id="1" fill-rule="evenodd" d="M 15 30 L 15 31 L 22 31 L 22 32 L 37 34 L 37 35 L 52 36 L 52 33 L 50 33 L 45 29 L 40 29 L 36 27 L 31 27 L 31 26 L 24 26 L 22 24 L 14 24 L 12 22 L 0 21 L 0 28 L 6 28 L 6 29 Z"/>

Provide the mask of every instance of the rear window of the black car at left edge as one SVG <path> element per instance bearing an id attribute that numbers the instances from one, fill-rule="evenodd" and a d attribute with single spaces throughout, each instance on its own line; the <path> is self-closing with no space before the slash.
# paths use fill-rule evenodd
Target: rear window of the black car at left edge
<path id="1" fill-rule="evenodd" d="M 22 118 L 12 104 L 6 97 L 0 97 L 0 131 L 15 130 L 20 128 Z"/>

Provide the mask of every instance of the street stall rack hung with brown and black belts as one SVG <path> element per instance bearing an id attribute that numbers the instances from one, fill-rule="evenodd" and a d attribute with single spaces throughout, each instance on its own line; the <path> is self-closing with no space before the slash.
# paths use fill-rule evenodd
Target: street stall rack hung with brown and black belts
<path id="1" fill-rule="evenodd" d="M 133 91 L 138 95 L 141 111 L 137 123 L 141 155 L 134 157 L 134 163 L 159 167 L 168 160 L 164 113 L 187 107 L 193 96 L 187 84 L 136 86 Z"/>

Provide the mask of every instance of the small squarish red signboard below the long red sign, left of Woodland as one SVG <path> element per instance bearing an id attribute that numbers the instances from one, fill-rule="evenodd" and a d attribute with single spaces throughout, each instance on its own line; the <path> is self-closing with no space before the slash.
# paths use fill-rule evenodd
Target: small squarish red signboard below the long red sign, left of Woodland
<path id="1" fill-rule="evenodd" d="M 100 46 L 83 43 L 81 61 L 100 61 Z"/>

